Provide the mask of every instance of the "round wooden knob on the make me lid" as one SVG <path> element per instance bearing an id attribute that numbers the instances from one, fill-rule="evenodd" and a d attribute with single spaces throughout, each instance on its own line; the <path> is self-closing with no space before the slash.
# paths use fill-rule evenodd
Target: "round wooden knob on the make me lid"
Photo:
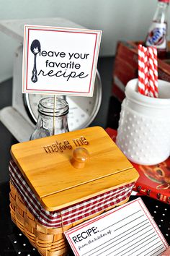
<path id="1" fill-rule="evenodd" d="M 89 159 L 89 152 L 86 148 L 76 148 L 73 150 L 71 164 L 74 168 L 84 168 L 86 161 Z"/>

